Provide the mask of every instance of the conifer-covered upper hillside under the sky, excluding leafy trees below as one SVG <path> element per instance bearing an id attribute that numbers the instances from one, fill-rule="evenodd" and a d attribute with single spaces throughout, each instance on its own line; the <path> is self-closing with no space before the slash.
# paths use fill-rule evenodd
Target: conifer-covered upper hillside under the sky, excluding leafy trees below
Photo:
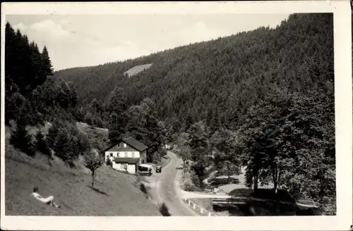
<path id="1" fill-rule="evenodd" d="M 96 67 L 54 73 L 73 81 L 78 98 L 104 101 L 122 87 L 128 104 L 150 97 L 158 116 L 190 124 L 208 119 L 235 127 L 249 106 L 276 89 L 307 94 L 333 81 L 333 23 L 325 14 L 291 15 L 275 29 L 258 28 L 230 37 Z M 152 67 L 128 78 L 135 65 Z M 330 77 L 328 77 L 330 76 Z M 179 124 L 180 123 L 180 124 Z"/>

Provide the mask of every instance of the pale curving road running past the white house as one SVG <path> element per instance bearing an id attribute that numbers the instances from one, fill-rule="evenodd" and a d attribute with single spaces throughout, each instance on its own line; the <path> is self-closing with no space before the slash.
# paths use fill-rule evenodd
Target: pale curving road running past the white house
<path id="1" fill-rule="evenodd" d="M 169 163 L 162 169 L 157 182 L 157 194 L 160 200 L 167 204 L 172 216 L 198 216 L 189 206 L 181 200 L 181 189 L 177 184 L 177 175 L 181 170 L 181 159 L 171 151 L 167 152 Z"/>

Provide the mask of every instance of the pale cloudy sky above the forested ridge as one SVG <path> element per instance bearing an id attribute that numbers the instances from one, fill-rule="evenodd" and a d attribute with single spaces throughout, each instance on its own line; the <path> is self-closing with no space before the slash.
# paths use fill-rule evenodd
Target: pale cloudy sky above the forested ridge
<path id="1" fill-rule="evenodd" d="M 6 15 L 40 49 L 54 70 L 100 65 L 164 49 L 276 27 L 288 14 Z"/>

